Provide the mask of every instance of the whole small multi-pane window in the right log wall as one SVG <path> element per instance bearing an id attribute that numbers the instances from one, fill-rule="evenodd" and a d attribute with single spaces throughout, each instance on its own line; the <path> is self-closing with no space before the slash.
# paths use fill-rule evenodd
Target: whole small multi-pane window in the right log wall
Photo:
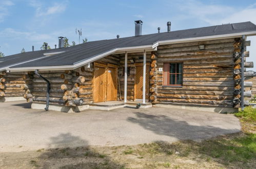
<path id="1" fill-rule="evenodd" d="M 183 64 L 182 63 L 164 63 L 164 85 L 182 86 L 183 82 Z"/>

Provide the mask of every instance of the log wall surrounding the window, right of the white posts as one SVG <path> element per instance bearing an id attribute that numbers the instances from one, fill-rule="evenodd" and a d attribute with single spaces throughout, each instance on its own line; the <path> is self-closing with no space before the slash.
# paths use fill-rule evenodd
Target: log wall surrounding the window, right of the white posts
<path id="1" fill-rule="evenodd" d="M 151 56 L 152 102 L 233 107 L 233 44 L 229 38 L 159 46 Z M 183 62 L 182 87 L 163 86 L 164 62 Z"/>

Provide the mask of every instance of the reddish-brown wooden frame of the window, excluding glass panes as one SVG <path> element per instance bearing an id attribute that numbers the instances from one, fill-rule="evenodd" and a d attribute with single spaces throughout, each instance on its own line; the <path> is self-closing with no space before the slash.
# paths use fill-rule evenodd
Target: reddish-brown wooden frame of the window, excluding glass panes
<path id="1" fill-rule="evenodd" d="M 166 71 L 165 65 L 168 64 L 168 69 Z M 181 73 L 170 73 L 170 64 L 182 64 L 182 72 Z M 176 69 L 175 69 L 176 70 Z M 164 62 L 163 63 L 163 86 L 168 86 L 168 87 L 182 87 L 183 86 L 183 74 L 184 74 L 184 69 L 183 69 L 183 62 L 181 61 L 173 61 L 173 62 Z M 175 83 L 177 81 L 177 74 L 181 74 L 181 85 L 172 85 L 170 84 L 170 74 L 175 74 Z M 167 76 L 165 78 L 165 76 Z"/>

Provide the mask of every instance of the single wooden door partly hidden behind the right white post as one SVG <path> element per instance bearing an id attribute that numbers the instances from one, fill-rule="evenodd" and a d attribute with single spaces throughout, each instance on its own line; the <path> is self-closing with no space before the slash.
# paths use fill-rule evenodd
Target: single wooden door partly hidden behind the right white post
<path id="1" fill-rule="evenodd" d="M 136 64 L 134 99 L 143 99 L 143 63 Z M 149 63 L 146 64 L 146 99 L 149 98 Z"/>

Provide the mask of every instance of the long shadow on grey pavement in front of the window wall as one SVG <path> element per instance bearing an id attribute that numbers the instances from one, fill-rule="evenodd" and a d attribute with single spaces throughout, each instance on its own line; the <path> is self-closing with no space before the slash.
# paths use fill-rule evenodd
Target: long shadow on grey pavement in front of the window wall
<path id="1" fill-rule="evenodd" d="M 134 113 L 136 117 L 127 120 L 143 126 L 158 135 L 166 135 L 179 140 L 205 139 L 217 135 L 240 132 L 238 129 L 221 129 L 214 126 L 191 125 L 186 121 L 174 120 L 165 115 L 149 115 L 141 112 Z"/>

